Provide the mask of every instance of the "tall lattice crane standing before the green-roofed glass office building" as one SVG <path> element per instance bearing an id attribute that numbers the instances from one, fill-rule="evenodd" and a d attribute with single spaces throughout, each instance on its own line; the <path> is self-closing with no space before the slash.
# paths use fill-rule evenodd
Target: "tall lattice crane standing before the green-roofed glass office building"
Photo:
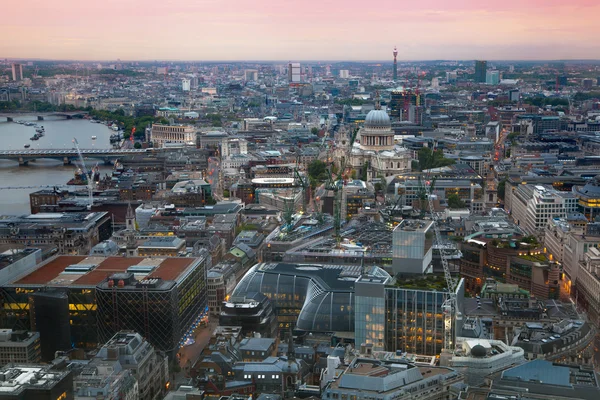
<path id="1" fill-rule="evenodd" d="M 444 350 L 454 350 L 453 331 L 455 325 L 455 319 L 458 319 L 460 312 L 457 309 L 456 303 L 456 281 L 450 274 L 450 266 L 448 265 L 448 259 L 446 254 L 446 248 L 443 246 L 442 238 L 440 234 L 440 228 L 438 225 L 438 217 L 433 209 L 433 186 L 432 182 L 426 182 L 428 200 L 429 200 L 429 212 L 431 213 L 431 220 L 433 221 L 433 230 L 435 232 L 435 241 L 440 249 L 440 258 L 444 267 L 444 278 L 446 279 L 446 286 L 448 288 L 448 298 L 442 304 L 442 312 L 444 315 Z"/>

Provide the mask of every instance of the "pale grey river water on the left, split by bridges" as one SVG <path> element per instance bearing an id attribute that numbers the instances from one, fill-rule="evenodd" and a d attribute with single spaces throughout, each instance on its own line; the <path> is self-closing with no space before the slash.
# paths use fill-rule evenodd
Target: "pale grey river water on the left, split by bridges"
<path id="1" fill-rule="evenodd" d="M 6 122 L 0 118 L 0 150 L 21 150 L 25 144 L 31 149 L 61 149 L 74 147 L 73 138 L 77 138 L 81 149 L 109 149 L 110 135 L 114 132 L 104 124 L 91 123 L 89 120 L 66 120 L 49 117 L 37 121 L 35 115 L 15 114 L 15 120 L 31 121 L 43 126 L 45 136 L 36 141 L 29 140 L 35 134 L 33 126 L 25 126 L 15 122 Z M 92 136 L 96 136 L 93 140 Z M 97 160 L 86 160 L 89 166 Z M 102 174 L 110 171 L 110 166 L 100 166 Z M 20 167 L 16 161 L 0 159 L 0 187 L 6 186 L 46 186 L 65 185 L 73 178 L 75 165 L 63 166 L 62 161 L 38 159 L 28 166 Z M 82 189 L 81 186 L 74 187 Z M 0 190 L 0 215 L 28 214 L 29 193 L 39 189 L 2 189 Z"/>

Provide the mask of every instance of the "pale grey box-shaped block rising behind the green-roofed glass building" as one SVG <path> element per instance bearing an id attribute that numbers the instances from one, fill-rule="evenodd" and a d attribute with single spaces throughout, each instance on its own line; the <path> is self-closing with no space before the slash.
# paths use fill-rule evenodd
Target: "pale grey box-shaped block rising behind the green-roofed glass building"
<path id="1" fill-rule="evenodd" d="M 394 228 L 394 275 L 424 274 L 429 270 L 433 254 L 433 222 L 405 219 Z"/>

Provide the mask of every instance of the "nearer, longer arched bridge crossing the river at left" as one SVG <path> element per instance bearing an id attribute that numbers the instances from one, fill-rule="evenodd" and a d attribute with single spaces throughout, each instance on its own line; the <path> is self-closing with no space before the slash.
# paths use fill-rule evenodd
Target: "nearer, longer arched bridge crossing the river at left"
<path id="1" fill-rule="evenodd" d="M 118 158 L 134 154 L 146 154 L 154 149 L 81 149 L 84 158 L 96 158 L 110 163 Z M 0 160 L 17 160 L 19 165 L 27 165 L 30 161 L 38 159 L 61 160 L 63 164 L 71 164 L 79 158 L 76 149 L 24 149 L 24 150 L 0 150 Z"/>

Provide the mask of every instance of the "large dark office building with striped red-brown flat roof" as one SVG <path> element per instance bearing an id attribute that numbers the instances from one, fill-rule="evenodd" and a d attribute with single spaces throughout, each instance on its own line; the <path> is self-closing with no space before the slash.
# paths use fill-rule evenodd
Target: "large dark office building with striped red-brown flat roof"
<path id="1" fill-rule="evenodd" d="M 204 253 L 199 258 L 55 257 L 2 285 L 0 316 L 3 326 L 25 330 L 35 318 L 43 352 L 46 338 L 59 341 L 48 345 L 48 353 L 72 345 L 92 349 L 122 329 L 169 352 L 205 311 L 206 262 Z"/>

